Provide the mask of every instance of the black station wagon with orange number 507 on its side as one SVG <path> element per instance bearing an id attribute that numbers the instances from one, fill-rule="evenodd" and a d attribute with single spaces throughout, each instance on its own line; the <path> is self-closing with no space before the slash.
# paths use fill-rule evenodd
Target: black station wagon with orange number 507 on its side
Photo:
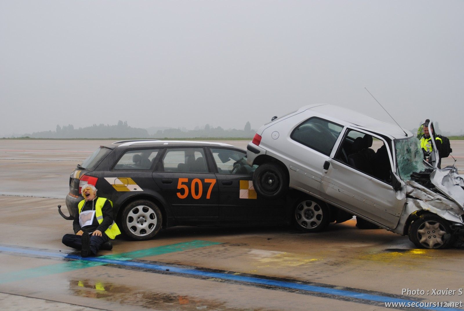
<path id="1" fill-rule="evenodd" d="M 118 141 L 100 146 L 71 173 L 67 218 L 77 216 L 81 188 L 87 183 L 113 202 L 116 223 L 135 240 L 177 225 L 292 222 L 315 232 L 352 217 L 334 208 L 328 218 L 322 211 L 325 205 L 293 189 L 282 198 L 264 198 L 253 188 L 256 167 L 246 163 L 245 150 L 223 143 Z"/>

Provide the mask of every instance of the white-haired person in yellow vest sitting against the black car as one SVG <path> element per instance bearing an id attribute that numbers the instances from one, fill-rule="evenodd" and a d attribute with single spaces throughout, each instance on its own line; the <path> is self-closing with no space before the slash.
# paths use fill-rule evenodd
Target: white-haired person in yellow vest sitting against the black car
<path id="1" fill-rule="evenodd" d="M 113 207 L 110 200 L 97 197 L 93 185 L 82 187 L 84 199 L 78 204 L 79 217 L 72 223 L 76 234 L 65 234 L 63 244 L 81 250 L 82 257 L 95 256 L 99 249 L 111 250 L 110 239 L 121 234 L 113 220 Z"/>

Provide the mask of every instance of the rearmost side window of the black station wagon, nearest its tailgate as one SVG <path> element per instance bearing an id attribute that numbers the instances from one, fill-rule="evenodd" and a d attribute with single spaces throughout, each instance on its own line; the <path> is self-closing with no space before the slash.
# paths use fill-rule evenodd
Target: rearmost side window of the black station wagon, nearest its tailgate
<path id="1" fill-rule="evenodd" d="M 113 169 L 123 171 L 149 170 L 158 152 L 159 149 L 128 150 L 124 152 Z"/>

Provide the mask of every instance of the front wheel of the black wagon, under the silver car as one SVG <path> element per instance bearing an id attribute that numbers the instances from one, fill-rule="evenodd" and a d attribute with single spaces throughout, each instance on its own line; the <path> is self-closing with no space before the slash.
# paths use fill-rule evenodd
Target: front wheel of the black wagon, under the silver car
<path id="1" fill-rule="evenodd" d="M 330 223 L 330 210 L 327 205 L 311 197 L 296 201 L 292 214 L 293 226 L 304 232 L 320 232 Z"/>

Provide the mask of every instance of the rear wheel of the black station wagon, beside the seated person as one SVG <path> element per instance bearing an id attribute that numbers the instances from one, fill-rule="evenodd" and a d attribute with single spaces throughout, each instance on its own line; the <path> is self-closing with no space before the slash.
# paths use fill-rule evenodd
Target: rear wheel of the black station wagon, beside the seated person
<path id="1" fill-rule="evenodd" d="M 159 207 L 148 200 L 137 200 L 124 207 L 121 225 L 123 232 L 134 240 L 153 238 L 161 229 Z"/>

